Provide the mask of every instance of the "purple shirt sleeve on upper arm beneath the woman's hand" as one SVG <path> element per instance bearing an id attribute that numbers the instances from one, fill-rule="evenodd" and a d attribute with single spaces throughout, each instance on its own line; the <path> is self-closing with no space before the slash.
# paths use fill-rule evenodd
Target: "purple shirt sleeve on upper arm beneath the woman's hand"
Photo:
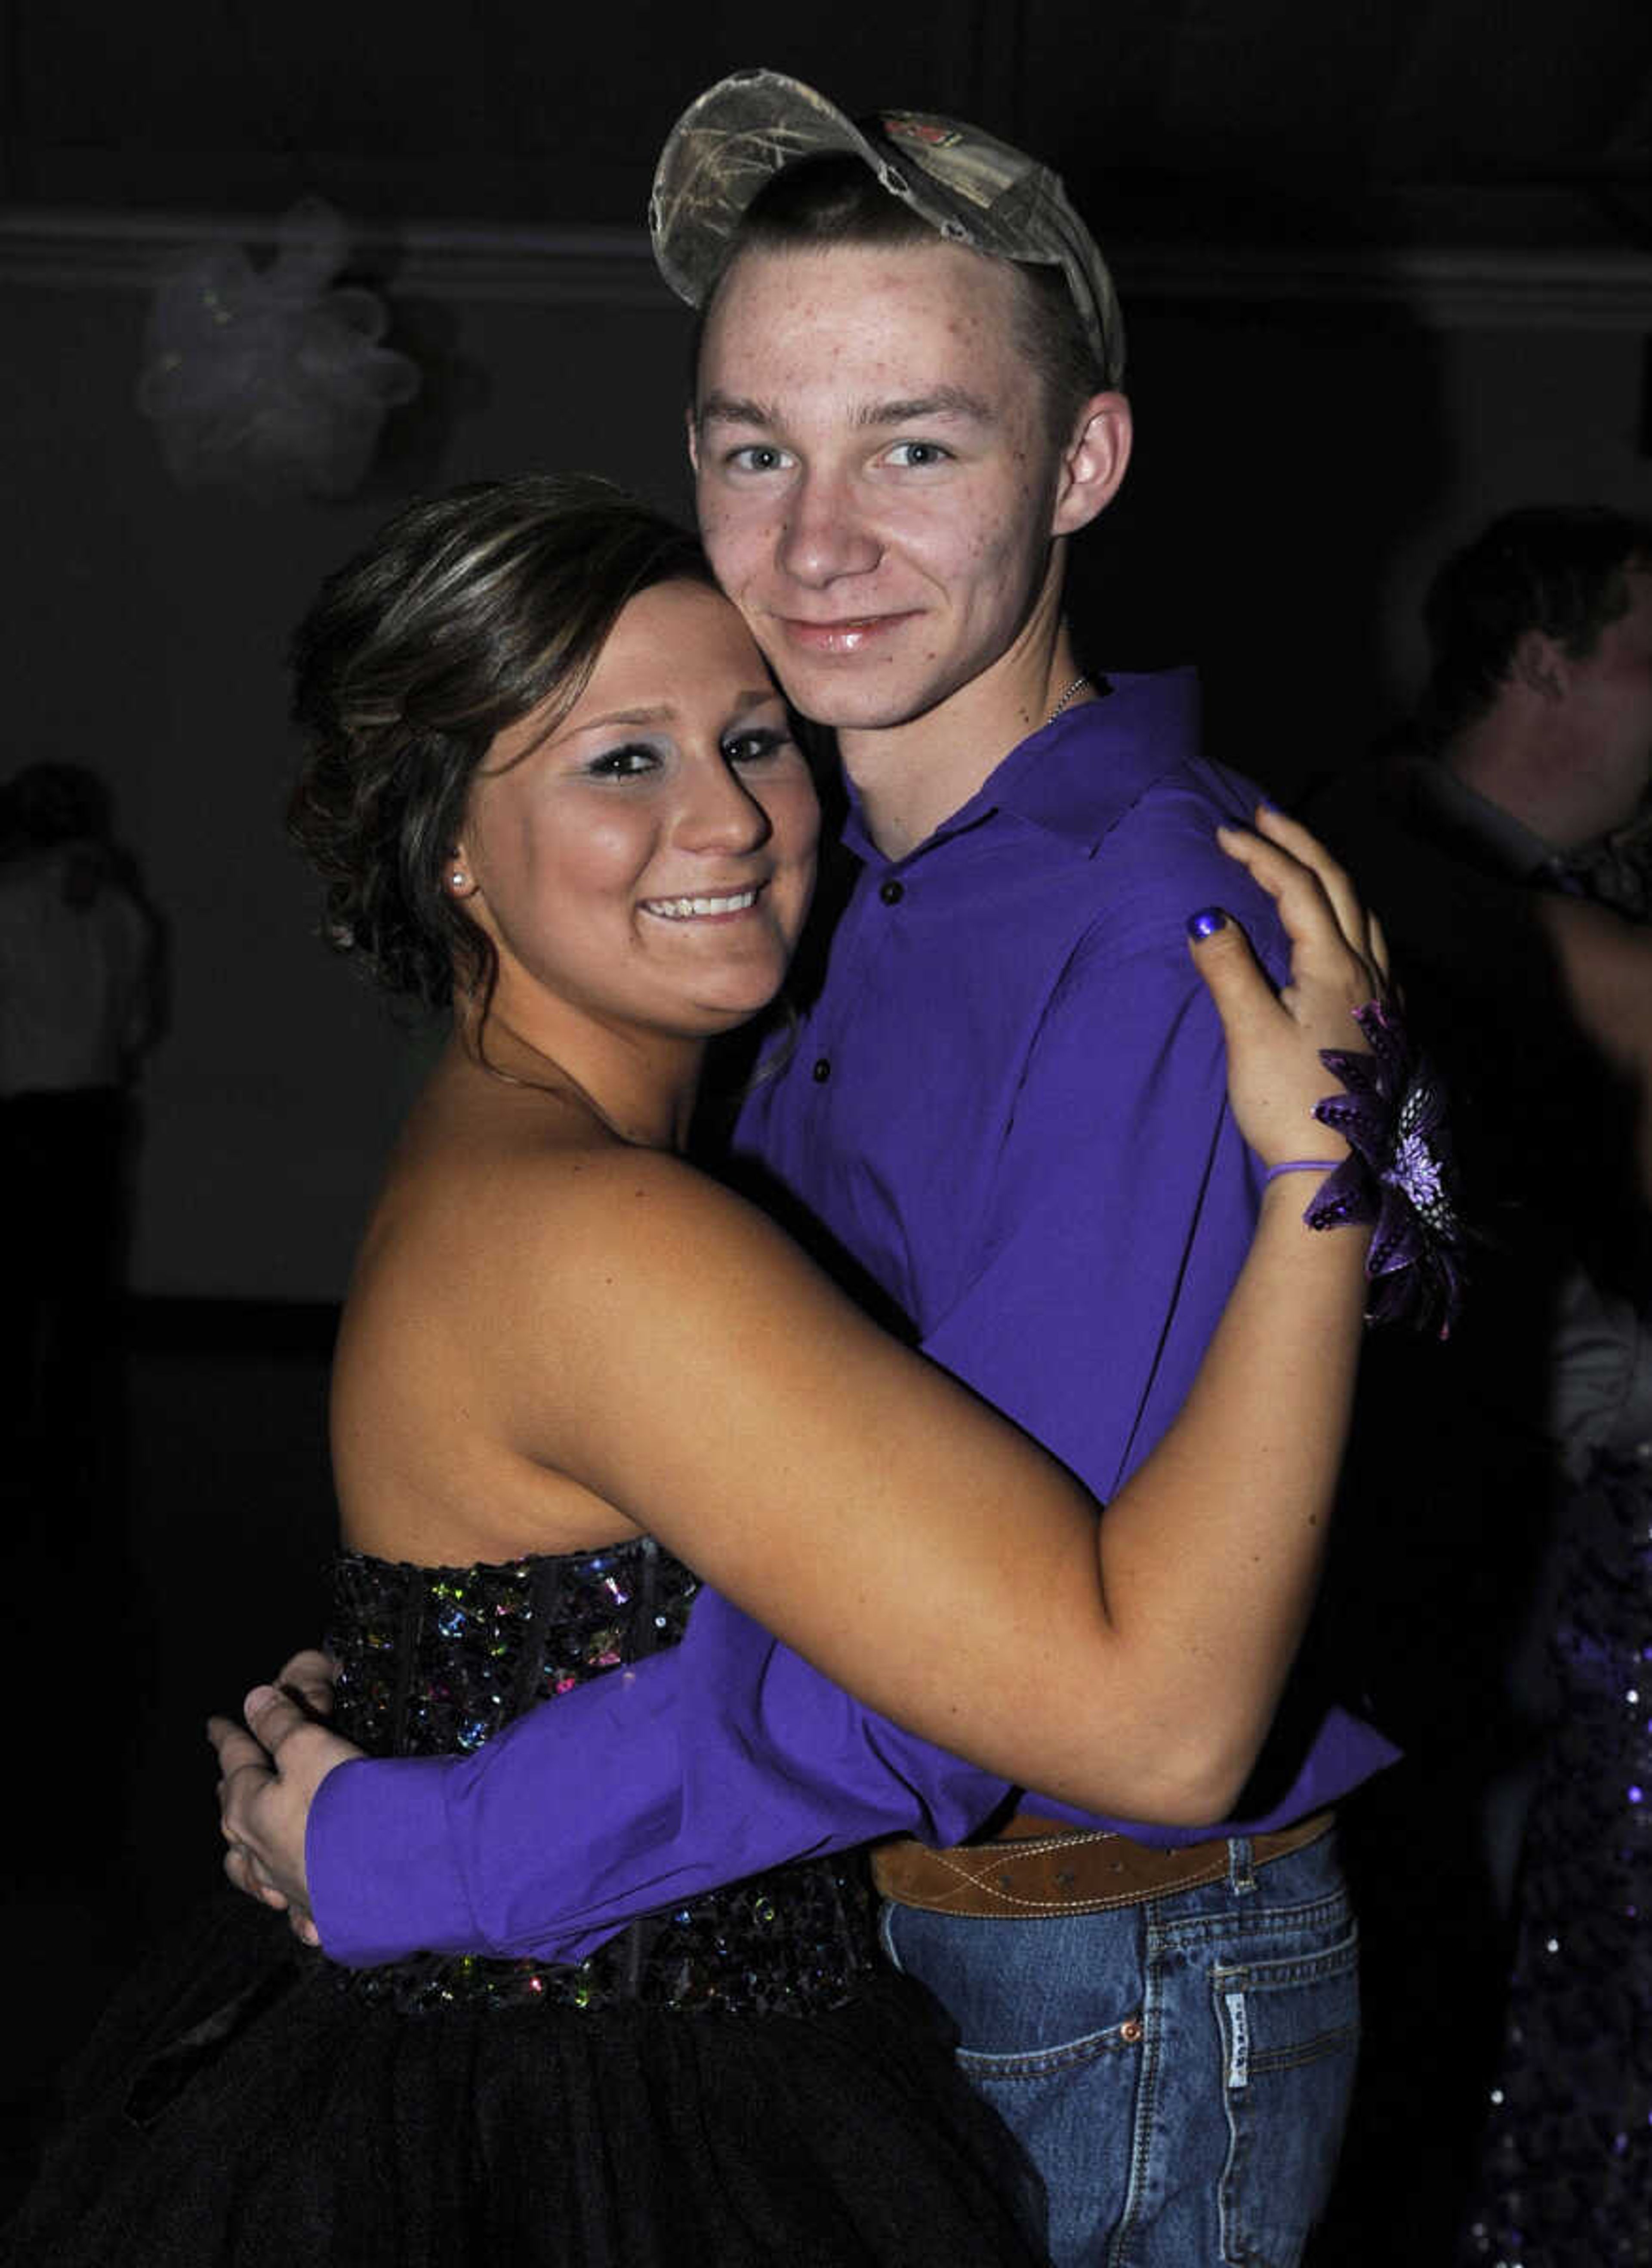
<path id="1" fill-rule="evenodd" d="M 921 1336 L 1101 1501 L 1175 1417 L 1255 1227 L 1257 1166 L 1187 916 L 1232 909 L 1275 980 L 1287 953 L 1212 816 L 1144 814 L 1103 846 L 1098 914 L 1028 1050 L 974 1272 Z"/>

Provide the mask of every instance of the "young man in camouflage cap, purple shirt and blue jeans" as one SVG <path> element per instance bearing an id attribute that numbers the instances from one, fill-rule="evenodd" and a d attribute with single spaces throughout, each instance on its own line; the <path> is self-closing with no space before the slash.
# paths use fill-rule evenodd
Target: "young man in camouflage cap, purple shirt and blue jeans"
<path id="1" fill-rule="evenodd" d="M 1062 621 L 1067 540 L 1130 451 L 1105 263 L 1019 152 L 935 118 L 862 132 L 774 73 L 685 113 L 651 220 L 703 313 L 706 544 L 837 730 L 862 860 L 738 1161 L 1107 1497 L 1175 1413 L 1255 1204 L 1185 919 L 1219 898 L 1264 950 L 1275 930 L 1214 846 L 1250 798 L 1200 762 L 1191 680 L 1092 678 Z M 1005 1810 L 713 1594 L 678 1656 L 570 1699 L 465 1765 L 327 1780 L 331 1953 L 579 1957 L 692 1885 Z M 1391 1751 L 1307 1694 L 1287 1717 L 1241 1823 L 1035 1801 L 987 1844 L 880 1857 L 890 1953 L 1039 2164 L 1057 2261 L 1287 2259 L 1325 2195 L 1357 2032 L 1325 1805 Z M 290 1710 L 252 1721 L 279 1742 Z M 268 1860 L 245 1758 L 225 1833 Z M 547 1848 L 556 1819 L 576 1853 Z"/>

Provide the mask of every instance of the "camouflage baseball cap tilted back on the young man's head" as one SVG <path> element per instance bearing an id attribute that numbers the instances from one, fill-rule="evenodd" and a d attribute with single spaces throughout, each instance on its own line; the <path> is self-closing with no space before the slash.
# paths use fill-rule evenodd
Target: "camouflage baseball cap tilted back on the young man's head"
<path id="1" fill-rule="evenodd" d="M 1096 238 L 1037 159 L 930 111 L 878 111 L 856 125 L 801 79 L 735 70 L 672 127 L 649 197 L 660 274 L 701 306 L 740 220 L 772 175 L 806 156 L 858 156 L 883 188 L 955 245 L 1060 268 L 1107 386 L 1123 379 L 1123 318 Z"/>

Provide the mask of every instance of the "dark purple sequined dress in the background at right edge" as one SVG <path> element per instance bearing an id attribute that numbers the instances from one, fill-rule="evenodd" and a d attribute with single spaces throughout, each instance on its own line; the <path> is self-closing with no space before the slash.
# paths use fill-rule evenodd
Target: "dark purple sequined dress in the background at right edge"
<path id="1" fill-rule="evenodd" d="M 1600 1458 L 1559 1549 L 1557 1719 L 1461 2259 L 1652 2268 L 1652 1470 Z"/>

